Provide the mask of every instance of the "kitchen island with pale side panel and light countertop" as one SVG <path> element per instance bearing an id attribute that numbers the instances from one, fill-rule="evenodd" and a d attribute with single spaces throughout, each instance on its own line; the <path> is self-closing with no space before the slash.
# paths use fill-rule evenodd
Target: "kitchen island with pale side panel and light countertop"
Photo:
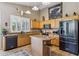
<path id="1" fill-rule="evenodd" d="M 48 47 L 47 44 L 51 44 L 50 37 L 46 35 L 31 36 L 32 55 L 34 56 L 50 55 L 50 47 Z"/>

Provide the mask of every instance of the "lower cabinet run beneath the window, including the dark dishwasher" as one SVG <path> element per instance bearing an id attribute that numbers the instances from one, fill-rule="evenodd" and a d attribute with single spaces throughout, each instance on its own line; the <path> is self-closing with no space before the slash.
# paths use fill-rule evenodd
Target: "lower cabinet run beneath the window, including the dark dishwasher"
<path id="1" fill-rule="evenodd" d="M 13 48 L 31 44 L 31 35 L 40 35 L 39 32 L 18 33 L 16 35 L 9 34 L 3 37 L 3 50 L 10 50 Z"/>

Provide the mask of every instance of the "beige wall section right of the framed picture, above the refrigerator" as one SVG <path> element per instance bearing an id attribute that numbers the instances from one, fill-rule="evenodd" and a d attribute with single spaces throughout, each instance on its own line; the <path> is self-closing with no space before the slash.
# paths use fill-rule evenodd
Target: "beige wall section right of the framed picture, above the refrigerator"
<path id="1" fill-rule="evenodd" d="M 63 16 L 67 13 L 73 15 L 73 12 L 79 14 L 79 2 L 64 2 L 63 3 Z"/>

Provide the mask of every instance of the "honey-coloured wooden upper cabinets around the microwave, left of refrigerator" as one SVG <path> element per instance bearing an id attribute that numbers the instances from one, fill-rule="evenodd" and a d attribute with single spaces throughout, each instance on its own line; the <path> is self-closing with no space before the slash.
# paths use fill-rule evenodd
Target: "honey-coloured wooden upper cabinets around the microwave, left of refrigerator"
<path id="1" fill-rule="evenodd" d="M 51 28 L 59 28 L 59 19 L 45 20 L 45 21 L 34 21 L 32 20 L 32 29 L 43 29 L 45 24 L 51 24 Z"/>

